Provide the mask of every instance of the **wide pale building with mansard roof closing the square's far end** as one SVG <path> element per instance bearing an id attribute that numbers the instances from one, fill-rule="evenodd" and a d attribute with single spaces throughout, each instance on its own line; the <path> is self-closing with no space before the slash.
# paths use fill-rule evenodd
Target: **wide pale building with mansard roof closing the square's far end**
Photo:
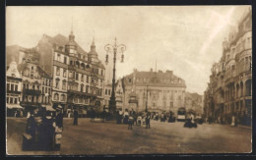
<path id="1" fill-rule="evenodd" d="M 124 108 L 141 112 L 172 111 L 177 114 L 180 107 L 184 107 L 185 80 L 173 75 L 172 71 L 139 72 L 123 78 Z"/>

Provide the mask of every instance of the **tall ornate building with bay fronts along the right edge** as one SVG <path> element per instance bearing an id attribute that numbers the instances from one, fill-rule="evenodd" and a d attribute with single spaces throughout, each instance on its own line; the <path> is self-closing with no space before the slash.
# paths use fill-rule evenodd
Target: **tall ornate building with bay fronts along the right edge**
<path id="1" fill-rule="evenodd" d="M 238 28 L 230 30 L 228 39 L 223 42 L 223 56 L 219 63 L 213 65 L 209 87 L 205 92 L 205 110 L 214 119 L 222 117 L 230 121 L 230 117 L 236 115 L 239 122 L 251 125 L 251 14 L 249 8 L 238 22 Z M 211 104 L 207 101 L 211 101 Z"/>

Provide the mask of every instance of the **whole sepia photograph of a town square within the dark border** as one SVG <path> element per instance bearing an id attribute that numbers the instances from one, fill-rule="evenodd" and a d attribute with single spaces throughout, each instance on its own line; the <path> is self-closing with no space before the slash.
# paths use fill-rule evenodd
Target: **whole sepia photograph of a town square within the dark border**
<path id="1" fill-rule="evenodd" d="M 7 6 L 6 155 L 252 152 L 252 7 Z"/>

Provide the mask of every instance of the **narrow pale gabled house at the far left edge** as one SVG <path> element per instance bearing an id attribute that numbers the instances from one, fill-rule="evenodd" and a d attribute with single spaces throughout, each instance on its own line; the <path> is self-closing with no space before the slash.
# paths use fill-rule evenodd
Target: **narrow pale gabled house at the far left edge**
<path id="1" fill-rule="evenodd" d="M 14 116 L 20 106 L 22 95 L 22 77 L 17 69 L 17 63 L 12 61 L 6 72 L 6 107 L 7 116 Z"/>

